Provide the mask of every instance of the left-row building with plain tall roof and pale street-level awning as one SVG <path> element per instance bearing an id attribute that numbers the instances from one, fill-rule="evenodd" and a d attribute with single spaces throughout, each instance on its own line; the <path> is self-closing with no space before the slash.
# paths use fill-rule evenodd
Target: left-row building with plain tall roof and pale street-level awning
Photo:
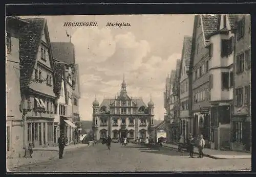
<path id="1" fill-rule="evenodd" d="M 75 64 L 75 47 L 71 42 L 52 42 L 51 48 L 56 62 L 65 63 L 65 114 L 60 119 L 60 129 L 66 137 L 66 142 L 71 143 L 79 140 L 81 121 L 79 116 L 78 99 L 80 98 L 80 83 L 78 64 Z M 62 107 L 62 105 L 61 105 Z M 78 121 L 78 122 L 77 122 Z M 79 129 L 79 131 L 78 131 Z"/>

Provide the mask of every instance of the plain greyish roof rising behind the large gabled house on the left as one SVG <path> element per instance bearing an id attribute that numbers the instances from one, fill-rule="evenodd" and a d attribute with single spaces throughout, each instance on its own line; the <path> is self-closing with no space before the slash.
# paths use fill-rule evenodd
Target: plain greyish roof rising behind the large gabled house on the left
<path id="1" fill-rule="evenodd" d="M 75 47 L 71 42 L 51 42 L 53 58 L 65 62 L 66 64 L 75 64 Z"/>

